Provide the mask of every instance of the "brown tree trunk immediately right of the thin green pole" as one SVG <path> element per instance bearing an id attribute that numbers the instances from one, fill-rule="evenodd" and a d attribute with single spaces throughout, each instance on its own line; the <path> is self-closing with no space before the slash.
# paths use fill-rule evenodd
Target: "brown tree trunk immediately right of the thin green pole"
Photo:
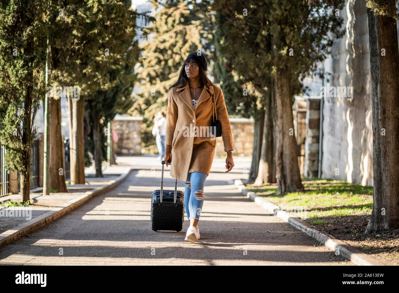
<path id="1" fill-rule="evenodd" d="M 68 192 L 65 184 L 65 149 L 61 135 L 61 97 L 51 98 L 50 112 L 50 188 L 57 192 Z"/>

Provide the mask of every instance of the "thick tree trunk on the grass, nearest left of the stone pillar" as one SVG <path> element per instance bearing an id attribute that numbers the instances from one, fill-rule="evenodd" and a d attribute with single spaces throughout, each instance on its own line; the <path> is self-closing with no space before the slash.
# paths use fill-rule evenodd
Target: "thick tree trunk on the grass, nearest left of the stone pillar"
<path id="1" fill-rule="evenodd" d="M 304 191 L 298 166 L 290 80 L 289 68 L 277 70 L 275 74 L 274 107 L 276 111 L 274 126 L 277 194 Z"/>

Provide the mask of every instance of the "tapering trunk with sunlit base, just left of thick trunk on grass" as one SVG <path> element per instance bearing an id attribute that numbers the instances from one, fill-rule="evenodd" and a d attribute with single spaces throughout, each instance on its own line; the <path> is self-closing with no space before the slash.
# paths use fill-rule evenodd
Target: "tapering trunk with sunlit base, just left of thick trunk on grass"
<path id="1" fill-rule="evenodd" d="M 271 90 L 267 92 L 266 111 L 263 127 L 263 138 L 261 146 L 261 157 L 259 160 L 258 176 L 255 185 L 261 186 L 273 181 L 273 120 L 271 109 Z"/>

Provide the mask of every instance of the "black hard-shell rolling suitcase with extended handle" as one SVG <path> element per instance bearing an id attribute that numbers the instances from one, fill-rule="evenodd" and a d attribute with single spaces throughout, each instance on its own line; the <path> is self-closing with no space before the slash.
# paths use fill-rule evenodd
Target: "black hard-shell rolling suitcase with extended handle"
<path id="1" fill-rule="evenodd" d="M 172 160 L 168 160 L 170 163 Z M 161 189 L 154 190 L 151 201 L 151 228 L 158 230 L 183 229 L 184 221 L 184 192 L 177 190 L 177 179 L 174 190 L 163 190 L 164 188 L 164 165 L 162 160 Z"/>

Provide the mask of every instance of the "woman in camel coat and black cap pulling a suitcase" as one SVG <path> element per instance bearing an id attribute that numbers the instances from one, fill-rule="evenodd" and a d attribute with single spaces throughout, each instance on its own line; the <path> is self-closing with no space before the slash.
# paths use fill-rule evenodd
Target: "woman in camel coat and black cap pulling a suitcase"
<path id="1" fill-rule="evenodd" d="M 192 52 L 188 55 L 178 81 L 170 86 L 166 113 L 165 162 L 168 166 L 168 160 L 173 157 L 170 175 L 183 181 L 186 187 L 184 206 L 190 226 L 184 240 L 189 242 L 199 239 L 198 220 L 203 206 L 203 187 L 215 154 L 216 137 L 209 131 L 213 94 L 227 152 L 226 172 L 234 166 L 233 137 L 223 92 L 207 78 L 206 58 L 198 54 Z"/>

